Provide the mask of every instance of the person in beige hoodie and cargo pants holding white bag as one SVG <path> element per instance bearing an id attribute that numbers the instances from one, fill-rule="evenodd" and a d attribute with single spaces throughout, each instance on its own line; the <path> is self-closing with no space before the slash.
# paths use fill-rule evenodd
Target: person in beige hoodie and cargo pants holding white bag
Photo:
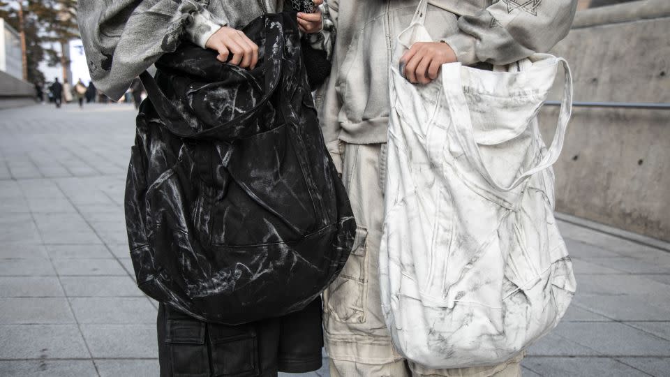
<path id="1" fill-rule="evenodd" d="M 396 36 L 419 0 L 328 0 L 337 38 L 329 81 L 316 104 L 330 153 L 357 220 L 357 242 L 324 293 L 331 376 L 521 376 L 523 353 L 491 367 L 428 369 L 394 349 L 380 304 L 378 255 L 389 114 L 388 70 Z M 425 84 L 440 66 L 491 69 L 546 52 L 569 31 L 576 0 L 432 0 L 426 27 L 435 38 L 403 56 L 410 82 Z"/>

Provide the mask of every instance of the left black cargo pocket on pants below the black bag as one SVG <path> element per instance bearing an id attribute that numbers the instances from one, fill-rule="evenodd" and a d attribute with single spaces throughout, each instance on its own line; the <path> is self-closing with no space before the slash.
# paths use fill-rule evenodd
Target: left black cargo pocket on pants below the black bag
<path id="1" fill-rule="evenodd" d="M 175 377 L 209 377 L 206 325 L 198 320 L 169 319 L 167 336 L 170 369 Z"/>

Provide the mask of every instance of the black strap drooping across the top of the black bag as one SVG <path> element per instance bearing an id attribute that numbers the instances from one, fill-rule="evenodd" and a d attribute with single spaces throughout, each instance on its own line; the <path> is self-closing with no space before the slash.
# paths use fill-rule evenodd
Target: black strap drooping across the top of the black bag
<path id="1" fill-rule="evenodd" d="M 239 125 L 258 117 L 259 109 L 264 106 L 279 86 L 279 81 L 282 75 L 282 55 L 284 50 L 284 38 L 281 15 L 268 14 L 265 20 L 265 94 L 256 103 L 256 105 L 248 112 L 241 114 L 239 117 L 220 124 L 215 127 L 207 128 L 200 132 L 188 132 L 193 129 L 193 125 L 189 124 L 187 119 L 181 114 L 173 104 L 172 101 L 163 94 L 163 91 L 154 77 L 149 72 L 144 71 L 140 74 L 140 80 L 147 89 L 147 95 L 151 100 L 151 104 L 156 108 L 158 116 L 161 117 L 165 126 L 171 133 L 181 138 L 189 139 L 205 139 L 216 138 L 216 133 L 222 128 L 227 128 L 230 124 Z M 277 26 L 279 25 L 279 26 Z"/>

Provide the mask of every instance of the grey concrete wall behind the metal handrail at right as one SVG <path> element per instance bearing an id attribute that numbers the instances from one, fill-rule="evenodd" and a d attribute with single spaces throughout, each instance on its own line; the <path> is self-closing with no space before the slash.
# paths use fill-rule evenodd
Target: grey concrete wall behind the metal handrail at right
<path id="1" fill-rule="evenodd" d="M 579 12 L 552 53 L 575 101 L 670 103 L 669 34 L 670 1 L 636 1 Z M 670 110 L 575 108 L 555 170 L 558 211 L 670 241 Z"/>

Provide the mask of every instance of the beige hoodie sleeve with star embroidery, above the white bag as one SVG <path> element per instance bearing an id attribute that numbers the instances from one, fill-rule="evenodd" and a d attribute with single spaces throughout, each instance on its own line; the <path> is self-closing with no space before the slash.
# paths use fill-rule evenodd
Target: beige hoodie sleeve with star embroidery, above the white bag
<path id="1" fill-rule="evenodd" d="M 459 18 L 459 33 L 445 38 L 464 65 L 509 64 L 546 52 L 569 32 L 577 0 L 500 0 Z"/>

